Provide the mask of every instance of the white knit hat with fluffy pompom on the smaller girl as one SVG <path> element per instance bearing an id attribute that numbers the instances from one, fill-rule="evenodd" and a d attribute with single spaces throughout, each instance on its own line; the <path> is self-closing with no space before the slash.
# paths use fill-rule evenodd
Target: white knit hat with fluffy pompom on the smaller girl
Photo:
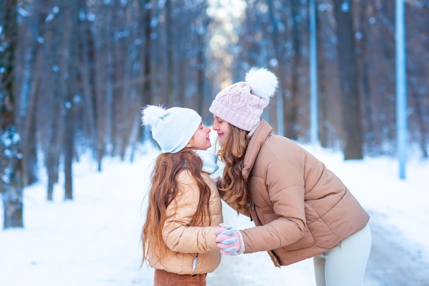
<path id="1" fill-rule="evenodd" d="M 142 123 L 151 127 L 152 138 L 163 153 L 177 153 L 189 143 L 201 124 L 201 116 L 195 110 L 184 107 L 164 109 L 146 105 L 142 110 Z"/>

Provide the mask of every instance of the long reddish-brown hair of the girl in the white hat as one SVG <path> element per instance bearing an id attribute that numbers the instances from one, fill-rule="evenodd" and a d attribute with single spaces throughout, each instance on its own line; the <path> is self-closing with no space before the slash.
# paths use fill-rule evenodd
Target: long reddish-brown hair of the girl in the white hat
<path id="1" fill-rule="evenodd" d="M 143 244 L 143 260 L 149 261 L 149 256 L 158 261 L 165 255 L 167 246 L 162 239 L 162 226 L 167 219 L 167 207 L 175 200 L 180 191 L 177 175 L 182 170 L 188 170 L 199 188 L 199 203 L 197 211 L 189 226 L 203 225 L 205 218 L 210 218 L 210 187 L 201 177 L 203 162 L 191 148 L 185 148 L 177 153 L 161 153 L 158 155 L 154 170 L 151 174 L 149 189 L 149 207 L 141 234 Z"/>

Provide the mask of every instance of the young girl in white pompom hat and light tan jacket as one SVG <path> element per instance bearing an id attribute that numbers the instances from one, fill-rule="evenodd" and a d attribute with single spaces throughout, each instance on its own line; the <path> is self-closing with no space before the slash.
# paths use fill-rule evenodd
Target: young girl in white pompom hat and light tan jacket
<path id="1" fill-rule="evenodd" d="M 162 153 L 152 171 L 142 231 L 143 263 L 155 268 L 154 285 L 206 285 L 221 260 L 215 242 L 222 223 L 219 193 L 209 174 L 217 170 L 210 129 L 193 109 L 148 105 L 143 125 Z"/>

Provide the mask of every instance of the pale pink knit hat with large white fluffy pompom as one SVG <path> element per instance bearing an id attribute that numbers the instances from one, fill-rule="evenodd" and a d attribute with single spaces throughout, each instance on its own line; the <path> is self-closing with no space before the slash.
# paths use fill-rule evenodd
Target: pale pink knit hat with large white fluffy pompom
<path id="1" fill-rule="evenodd" d="M 277 87 L 274 73 L 266 68 L 251 68 L 245 81 L 221 90 L 208 110 L 239 129 L 252 131 Z"/>

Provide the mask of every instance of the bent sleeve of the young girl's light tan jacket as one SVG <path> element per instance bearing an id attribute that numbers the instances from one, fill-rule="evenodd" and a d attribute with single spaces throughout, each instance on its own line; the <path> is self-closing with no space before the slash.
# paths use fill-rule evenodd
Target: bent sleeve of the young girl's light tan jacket
<path id="1" fill-rule="evenodd" d="M 182 253 L 219 250 L 215 242 L 217 226 L 189 226 L 197 211 L 199 190 L 187 172 L 179 174 L 180 190 L 167 208 L 162 238 L 169 249 Z"/>

